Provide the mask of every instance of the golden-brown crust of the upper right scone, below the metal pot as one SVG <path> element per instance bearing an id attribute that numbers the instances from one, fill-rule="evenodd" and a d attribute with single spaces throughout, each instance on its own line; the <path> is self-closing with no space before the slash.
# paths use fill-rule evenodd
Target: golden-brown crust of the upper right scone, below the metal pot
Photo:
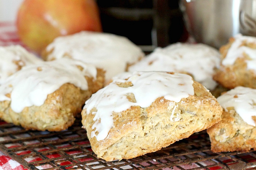
<path id="1" fill-rule="evenodd" d="M 229 43 L 220 48 L 221 60 L 223 60 L 228 52 L 228 49 L 234 42 L 234 38 L 230 38 Z M 256 49 L 256 44 L 243 42 L 245 46 Z M 213 79 L 228 89 L 235 88 L 237 86 L 244 86 L 250 88 L 256 88 L 256 73 L 253 70 L 247 69 L 246 60 L 249 56 L 243 54 L 243 58 L 236 59 L 233 65 L 220 65 L 220 69 L 216 70 Z"/>

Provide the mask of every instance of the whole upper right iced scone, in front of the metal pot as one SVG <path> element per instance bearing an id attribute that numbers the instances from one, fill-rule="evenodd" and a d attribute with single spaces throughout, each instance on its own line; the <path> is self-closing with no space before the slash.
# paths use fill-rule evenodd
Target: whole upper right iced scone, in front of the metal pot
<path id="1" fill-rule="evenodd" d="M 213 76 L 222 86 L 256 88 L 256 38 L 241 34 L 220 48 L 221 66 Z"/>

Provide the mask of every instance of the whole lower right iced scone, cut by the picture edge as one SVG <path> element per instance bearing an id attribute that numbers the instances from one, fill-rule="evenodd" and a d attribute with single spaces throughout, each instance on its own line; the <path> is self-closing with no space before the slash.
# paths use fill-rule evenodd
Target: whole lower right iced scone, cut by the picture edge
<path id="1" fill-rule="evenodd" d="M 238 86 L 217 98 L 222 120 L 207 129 L 213 152 L 256 149 L 256 89 Z"/>

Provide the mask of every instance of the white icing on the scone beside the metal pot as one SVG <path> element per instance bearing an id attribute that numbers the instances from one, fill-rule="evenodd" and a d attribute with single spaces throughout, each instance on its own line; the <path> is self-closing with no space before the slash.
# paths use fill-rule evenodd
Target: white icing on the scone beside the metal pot
<path id="1" fill-rule="evenodd" d="M 235 41 L 228 49 L 226 57 L 222 60 L 223 65 L 232 65 L 237 58 L 243 58 L 243 54 L 247 54 L 251 59 L 246 60 L 247 69 L 256 70 L 256 49 L 243 46 L 242 43 L 247 41 L 249 43 L 256 43 L 256 37 L 236 35 Z"/>

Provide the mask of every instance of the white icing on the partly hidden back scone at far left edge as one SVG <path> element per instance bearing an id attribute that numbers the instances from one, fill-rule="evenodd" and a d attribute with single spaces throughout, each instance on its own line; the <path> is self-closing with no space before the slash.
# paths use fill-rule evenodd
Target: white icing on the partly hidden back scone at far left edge
<path id="1" fill-rule="evenodd" d="M 29 53 L 22 46 L 0 46 L 0 84 L 18 67 L 41 62 L 34 54 Z"/>

